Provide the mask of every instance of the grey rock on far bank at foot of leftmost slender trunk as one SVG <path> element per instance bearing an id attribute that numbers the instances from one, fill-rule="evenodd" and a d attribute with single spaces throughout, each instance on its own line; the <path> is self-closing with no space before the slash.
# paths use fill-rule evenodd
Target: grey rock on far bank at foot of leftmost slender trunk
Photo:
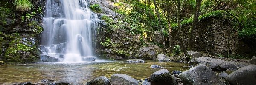
<path id="1" fill-rule="evenodd" d="M 143 47 L 139 49 L 138 51 L 139 55 L 137 58 L 154 60 L 157 58 L 157 54 L 161 52 L 162 52 L 162 49 L 159 48 L 157 45 L 152 45 L 150 47 Z"/>

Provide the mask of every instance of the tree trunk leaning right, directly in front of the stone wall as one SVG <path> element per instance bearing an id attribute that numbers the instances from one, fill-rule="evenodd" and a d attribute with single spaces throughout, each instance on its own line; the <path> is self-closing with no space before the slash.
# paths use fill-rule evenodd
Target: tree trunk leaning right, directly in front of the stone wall
<path id="1" fill-rule="evenodd" d="M 189 32 L 189 51 L 192 51 L 192 49 L 193 49 L 194 30 L 195 30 L 196 25 L 198 23 L 198 17 L 199 17 L 201 2 L 202 2 L 202 0 L 196 0 L 194 20 L 193 20 L 193 23 L 192 23 L 192 26 L 191 26 L 190 32 Z"/>

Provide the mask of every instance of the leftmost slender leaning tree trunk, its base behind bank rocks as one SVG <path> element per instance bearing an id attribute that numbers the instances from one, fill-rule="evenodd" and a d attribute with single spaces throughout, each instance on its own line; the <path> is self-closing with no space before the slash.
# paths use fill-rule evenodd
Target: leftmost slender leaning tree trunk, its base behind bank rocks
<path id="1" fill-rule="evenodd" d="M 159 15 L 159 11 L 157 9 L 157 2 L 156 0 L 154 0 L 154 6 L 155 6 L 155 10 L 157 12 L 157 19 L 158 19 L 158 24 L 160 26 L 160 29 L 161 29 L 161 40 L 162 40 L 162 44 L 163 44 L 163 53 L 165 54 L 166 53 L 166 48 L 165 48 L 165 42 L 164 42 L 164 36 L 163 36 L 163 28 L 162 28 L 162 25 L 161 25 L 161 20 L 160 20 L 160 15 Z"/>

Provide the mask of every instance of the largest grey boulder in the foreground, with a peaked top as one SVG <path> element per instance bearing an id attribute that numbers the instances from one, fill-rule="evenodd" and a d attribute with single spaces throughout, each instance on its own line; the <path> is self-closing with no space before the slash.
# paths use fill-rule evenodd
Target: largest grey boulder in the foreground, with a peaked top
<path id="1" fill-rule="evenodd" d="M 211 68 L 200 64 L 179 74 L 184 85 L 225 85 Z"/>

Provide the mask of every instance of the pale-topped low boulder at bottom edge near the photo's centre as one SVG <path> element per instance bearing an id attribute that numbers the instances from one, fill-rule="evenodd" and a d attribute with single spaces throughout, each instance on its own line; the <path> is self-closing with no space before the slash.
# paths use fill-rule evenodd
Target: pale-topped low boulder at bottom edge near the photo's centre
<path id="1" fill-rule="evenodd" d="M 139 85 L 139 82 L 126 74 L 113 74 L 110 77 L 111 85 Z"/>

